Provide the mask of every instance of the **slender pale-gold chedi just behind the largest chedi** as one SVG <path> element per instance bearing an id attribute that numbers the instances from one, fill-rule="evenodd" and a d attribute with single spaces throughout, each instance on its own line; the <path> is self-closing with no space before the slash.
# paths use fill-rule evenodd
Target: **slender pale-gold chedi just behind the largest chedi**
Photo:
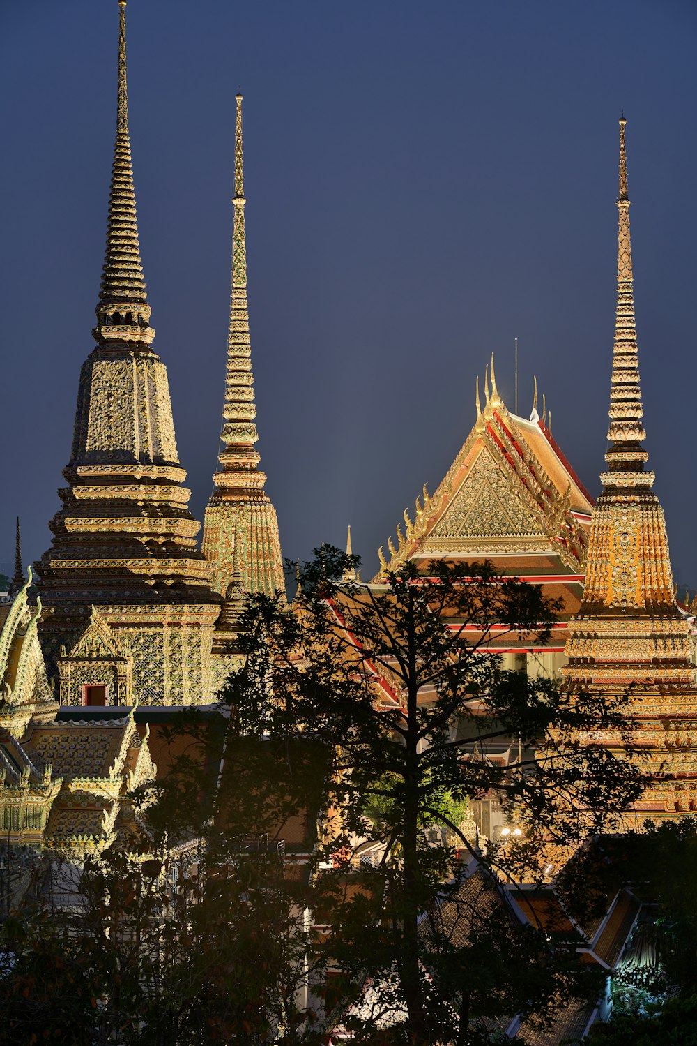
<path id="1" fill-rule="evenodd" d="M 242 96 L 237 95 L 235 195 L 233 198 L 232 290 L 223 406 L 223 449 L 213 494 L 204 519 L 203 549 L 213 564 L 213 585 L 273 595 L 283 589 L 276 509 L 264 494 L 265 475 L 255 450 L 254 377 L 247 306 L 247 243 L 242 170 Z"/>

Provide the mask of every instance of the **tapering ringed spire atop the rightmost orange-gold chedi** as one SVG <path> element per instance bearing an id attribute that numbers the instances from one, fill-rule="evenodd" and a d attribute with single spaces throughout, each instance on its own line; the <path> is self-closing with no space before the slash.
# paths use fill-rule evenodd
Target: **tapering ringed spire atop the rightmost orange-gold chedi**
<path id="1" fill-rule="evenodd" d="M 604 485 L 615 485 L 614 473 L 642 473 L 648 454 L 641 442 L 646 438 L 642 418 L 642 391 L 638 378 L 636 328 L 634 323 L 634 291 L 629 236 L 629 197 L 627 195 L 627 154 L 625 151 L 624 116 L 620 119 L 620 192 L 618 197 L 618 303 L 612 349 L 612 385 L 610 389 L 607 438 L 612 444 L 605 455 L 608 471 L 601 477 Z M 653 476 L 645 473 L 642 486 L 650 486 Z M 622 481 L 626 485 L 626 480 Z"/>

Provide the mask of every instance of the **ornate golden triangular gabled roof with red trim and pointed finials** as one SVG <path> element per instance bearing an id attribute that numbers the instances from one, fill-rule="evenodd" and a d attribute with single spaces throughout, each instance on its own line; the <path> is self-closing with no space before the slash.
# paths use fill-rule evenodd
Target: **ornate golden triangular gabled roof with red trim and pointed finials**
<path id="1" fill-rule="evenodd" d="M 493 374 L 493 366 L 492 366 Z M 492 379 L 486 405 L 433 497 L 423 490 L 416 518 L 404 511 L 398 547 L 380 548 L 380 573 L 412 559 L 547 553 L 562 569 L 585 568 L 593 500 L 537 411 L 509 413 Z"/>

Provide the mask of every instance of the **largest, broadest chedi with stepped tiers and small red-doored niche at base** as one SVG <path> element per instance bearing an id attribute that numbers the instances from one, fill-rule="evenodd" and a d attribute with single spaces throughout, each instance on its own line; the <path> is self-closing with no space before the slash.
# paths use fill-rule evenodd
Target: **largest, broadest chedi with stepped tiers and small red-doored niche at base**
<path id="1" fill-rule="evenodd" d="M 72 453 L 37 564 L 49 672 L 70 704 L 175 704 L 210 690 L 220 599 L 196 550 L 164 364 L 153 350 L 131 165 L 125 0 L 107 252 Z"/>

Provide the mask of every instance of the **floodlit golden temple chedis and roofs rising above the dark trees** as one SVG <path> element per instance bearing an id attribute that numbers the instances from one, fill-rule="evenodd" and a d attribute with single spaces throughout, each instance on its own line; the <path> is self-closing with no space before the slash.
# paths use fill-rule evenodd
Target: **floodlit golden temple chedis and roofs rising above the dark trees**
<path id="1" fill-rule="evenodd" d="M 130 787 L 156 773 L 150 720 L 214 699 L 238 657 L 247 593 L 283 593 L 276 510 L 255 447 L 242 97 L 222 448 L 199 550 L 167 372 L 153 349 L 129 136 L 125 0 L 118 2 L 116 144 L 96 346 L 82 368 L 51 547 L 37 564 L 40 598 L 30 598 L 30 571 L 24 577 L 18 521 L 15 576 L 0 602 L 0 826 L 13 839 L 83 850 L 130 823 Z M 413 518 L 404 510 L 370 584 L 379 589 L 406 562 L 427 573 L 438 560 L 486 559 L 501 575 L 559 600 L 551 642 L 537 645 L 502 626 L 490 650 L 508 668 L 561 673 L 571 687 L 627 693 L 654 777 L 636 814 L 675 817 L 697 809 L 694 623 L 675 601 L 664 514 L 641 446 L 624 119 L 618 206 L 611 446 L 597 503 L 554 439 L 547 410 L 538 414 L 536 386 L 530 416 L 512 413 L 492 357 L 482 399 L 477 380 L 471 431 L 435 494 L 424 486 Z M 353 584 L 355 572 L 344 581 Z M 591 742 L 619 746 L 609 735 Z M 515 738 L 501 737 L 480 754 L 507 765 L 519 750 Z M 496 826 L 494 804 L 487 835 Z"/>

